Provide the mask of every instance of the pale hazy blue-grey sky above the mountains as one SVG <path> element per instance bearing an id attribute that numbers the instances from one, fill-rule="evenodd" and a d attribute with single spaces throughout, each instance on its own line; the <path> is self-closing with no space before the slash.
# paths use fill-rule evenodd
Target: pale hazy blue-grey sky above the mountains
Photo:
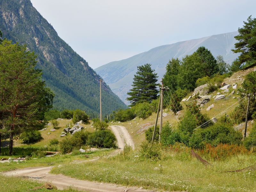
<path id="1" fill-rule="evenodd" d="M 255 0 L 31 0 L 93 69 L 164 44 L 236 31 Z"/>

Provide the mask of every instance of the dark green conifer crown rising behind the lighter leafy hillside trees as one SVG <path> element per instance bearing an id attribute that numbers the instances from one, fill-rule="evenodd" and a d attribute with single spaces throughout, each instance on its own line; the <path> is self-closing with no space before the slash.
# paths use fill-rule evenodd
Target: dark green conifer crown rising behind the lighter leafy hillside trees
<path id="1" fill-rule="evenodd" d="M 210 77 L 220 72 L 216 59 L 213 57 L 212 53 L 208 49 L 206 49 L 205 47 L 199 47 L 196 50 L 196 53 L 198 54 L 200 62 L 203 65 L 202 67 L 204 71 L 204 76 Z"/>

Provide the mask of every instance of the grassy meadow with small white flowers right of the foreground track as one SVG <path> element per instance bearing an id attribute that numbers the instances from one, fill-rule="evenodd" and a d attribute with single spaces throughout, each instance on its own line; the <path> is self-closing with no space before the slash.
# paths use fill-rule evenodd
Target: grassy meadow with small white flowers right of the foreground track
<path id="1" fill-rule="evenodd" d="M 227 172 L 255 162 L 255 155 L 238 155 L 204 166 L 188 152 L 168 151 L 160 161 L 142 160 L 139 152 L 133 152 L 126 159 L 116 156 L 54 167 L 52 173 L 160 191 L 256 191 L 256 166 L 254 170 Z"/>

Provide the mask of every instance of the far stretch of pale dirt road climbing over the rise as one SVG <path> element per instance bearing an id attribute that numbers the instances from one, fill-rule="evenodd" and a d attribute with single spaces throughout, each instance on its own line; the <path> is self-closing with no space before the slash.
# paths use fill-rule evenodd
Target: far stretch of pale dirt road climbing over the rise
<path id="1" fill-rule="evenodd" d="M 114 132 L 114 134 L 116 135 L 118 148 L 123 149 L 124 145 L 127 144 L 127 145 L 130 145 L 132 147 L 132 149 L 134 150 L 135 145 L 132 140 L 132 137 L 124 126 L 111 125 L 110 127 L 111 127 L 112 131 Z"/>

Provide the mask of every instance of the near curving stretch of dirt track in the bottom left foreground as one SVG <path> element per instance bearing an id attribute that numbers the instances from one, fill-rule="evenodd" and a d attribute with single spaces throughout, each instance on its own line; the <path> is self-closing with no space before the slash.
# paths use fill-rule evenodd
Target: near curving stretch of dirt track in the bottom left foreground
<path id="1" fill-rule="evenodd" d="M 58 189 L 65 189 L 68 187 L 77 190 L 92 191 L 92 192 L 147 192 L 145 189 L 140 188 L 127 188 L 109 183 L 99 183 L 85 180 L 77 180 L 62 174 L 54 175 L 49 173 L 52 167 L 33 167 L 25 169 L 17 169 L 9 172 L 4 172 L 6 176 L 23 176 L 37 180 L 39 182 L 49 182 L 56 186 Z"/>

